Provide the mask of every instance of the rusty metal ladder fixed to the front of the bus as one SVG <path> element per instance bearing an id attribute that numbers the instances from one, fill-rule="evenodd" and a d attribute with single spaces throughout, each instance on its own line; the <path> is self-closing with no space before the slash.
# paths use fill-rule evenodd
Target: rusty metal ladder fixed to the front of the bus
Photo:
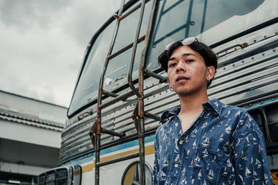
<path id="1" fill-rule="evenodd" d="M 154 78 L 157 78 L 158 80 L 163 81 L 163 82 L 165 80 L 167 80 L 163 76 L 159 76 L 158 74 L 153 73 L 152 71 L 148 71 L 147 69 L 144 69 L 145 58 L 147 55 L 147 46 L 149 45 L 151 30 L 152 30 L 152 26 L 154 24 L 153 20 L 154 20 L 155 8 L 156 8 L 156 3 L 157 3 L 156 0 L 153 1 L 152 10 L 151 10 L 152 12 L 151 12 L 151 15 L 149 18 L 149 25 L 147 28 L 147 33 L 139 38 L 140 28 L 141 28 L 141 24 L 142 24 L 142 17 L 144 15 L 144 10 L 145 10 L 145 3 L 147 3 L 148 1 L 150 1 L 150 0 L 142 0 L 142 2 L 139 3 L 137 6 L 134 6 L 133 8 L 131 8 L 131 10 L 129 10 L 129 12 L 126 12 L 124 15 L 122 15 L 122 12 L 124 10 L 124 2 L 125 2 L 124 0 L 122 0 L 121 8 L 120 8 L 119 12 L 117 13 L 117 15 L 115 15 L 115 17 L 117 18 L 117 23 L 116 23 L 115 30 L 113 33 L 113 39 L 111 42 L 111 46 L 109 47 L 108 55 L 107 55 L 106 61 L 104 63 L 104 68 L 101 73 L 101 78 L 99 80 L 99 94 L 98 94 L 98 99 L 97 99 L 97 118 L 89 132 L 92 144 L 95 147 L 95 184 L 96 185 L 99 185 L 99 175 L 100 175 L 99 168 L 101 166 L 106 166 L 108 164 L 113 164 L 113 163 L 116 163 L 119 161 L 124 161 L 127 159 L 133 159 L 136 157 L 140 158 L 140 184 L 145 185 L 145 125 L 144 125 L 145 119 L 144 119 L 144 117 L 154 118 L 154 119 L 158 120 L 158 116 L 148 113 L 148 112 L 144 112 L 144 89 L 143 89 L 144 74 L 147 76 L 152 76 Z M 113 46 L 115 44 L 115 39 L 117 37 L 117 30 L 120 25 L 120 21 L 122 21 L 122 19 L 124 19 L 125 17 L 130 15 L 132 12 L 138 10 L 138 8 L 141 8 L 141 10 L 140 10 L 140 17 L 138 20 L 138 27 L 136 30 L 136 36 L 135 36 L 134 42 L 129 44 L 128 46 L 125 46 L 124 48 L 120 49 L 120 51 L 117 51 L 112 54 Z M 145 41 L 145 43 L 144 43 L 142 55 L 140 58 L 138 88 L 136 88 L 134 86 L 133 80 L 132 80 L 133 64 L 134 64 L 134 60 L 135 60 L 135 56 L 136 56 L 137 44 L 140 42 L 143 42 L 143 41 Z M 131 47 L 133 47 L 133 50 L 132 50 L 132 54 L 131 54 L 131 61 L 129 64 L 129 73 L 128 73 L 128 77 L 127 77 L 128 84 L 129 84 L 129 87 L 131 88 L 131 91 L 128 91 L 125 94 L 122 94 L 119 96 L 118 94 L 114 94 L 113 92 L 104 90 L 103 89 L 104 75 L 106 73 L 106 69 L 108 67 L 109 60 L 115 58 L 117 55 L 120 55 L 124 51 L 131 49 Z M 134 124 L 136 125 L 136 130 L 138 132 L 139 152 L 136 152 L 132 155 L 126 155 L 124 157 L 118 157 L 116 159 L 111 159 L 108 161 L 100 161 L 101 133 L 111 134 L 113 136 L 119 136 L 119 137 L 125 136 L 125 133 L 119 133 L 119 132 L 115 132 L 112 130 L 106 130 L 103 127 L 101 127 L 101 109 L 104 109 L 105 107 L 113 105 L 114 103 L 117 103 L 120 100 L 124 100 L 125 98 L 128 98 L 129 96 L 133 96 L 134 94 L 138 98 L 138 106 L 136 107 L 136 109 L 134 111 L 135 116 L 133 117 L 133 121 L 134 121 Z M 107 103 L 102 104 L 103 95 L 111 96 L 111 97 L 113 97 L 113 99 Z"/>

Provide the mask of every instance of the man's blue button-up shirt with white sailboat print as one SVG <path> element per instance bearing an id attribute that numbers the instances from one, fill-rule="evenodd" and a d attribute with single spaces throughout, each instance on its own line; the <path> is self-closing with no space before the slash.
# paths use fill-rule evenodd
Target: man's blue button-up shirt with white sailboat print
<path id="1" fill-rule="evenodd" d="M 180 108 L 163 112 L 153 184 L 272 184 L 263 134 L 245 110 L 209 100 L 186 132 Z"/>

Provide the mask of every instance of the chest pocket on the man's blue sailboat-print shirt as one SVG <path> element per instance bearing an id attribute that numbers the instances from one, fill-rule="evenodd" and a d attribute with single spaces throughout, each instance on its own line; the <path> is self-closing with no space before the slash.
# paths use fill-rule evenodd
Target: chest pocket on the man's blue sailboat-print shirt
<path id="1" fill-rule="evenodd" d="M 217 184 L 221 164 L 217 151 L 198 146 L 193 159 L 193 179 L 199 183 L 206 181 L 206 184 Z"/>

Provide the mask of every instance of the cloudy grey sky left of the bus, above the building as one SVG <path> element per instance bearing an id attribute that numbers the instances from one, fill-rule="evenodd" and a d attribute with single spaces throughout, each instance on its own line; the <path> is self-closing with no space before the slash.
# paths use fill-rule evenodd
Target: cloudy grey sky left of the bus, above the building
<path id="1" fill-rule="evenodd" d="M 85 48 L 120 0 L 0 0 L 0 89 L 68 107 Z"/>

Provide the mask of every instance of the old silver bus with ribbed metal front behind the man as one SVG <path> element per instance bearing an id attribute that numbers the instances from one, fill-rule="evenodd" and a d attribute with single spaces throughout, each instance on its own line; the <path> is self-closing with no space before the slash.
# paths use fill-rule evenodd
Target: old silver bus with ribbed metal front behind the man
<path id="1" fill-rule="evenodd" d="M 160 116 L 179 106 L 157 58 L 186 37 L 217 55 L 208 97 L 255 119 L 278 184 L 277 10 L 277 0 L 122 0 L 85 49 L 58 167 L 38 184 L 152 184 Z"/>

